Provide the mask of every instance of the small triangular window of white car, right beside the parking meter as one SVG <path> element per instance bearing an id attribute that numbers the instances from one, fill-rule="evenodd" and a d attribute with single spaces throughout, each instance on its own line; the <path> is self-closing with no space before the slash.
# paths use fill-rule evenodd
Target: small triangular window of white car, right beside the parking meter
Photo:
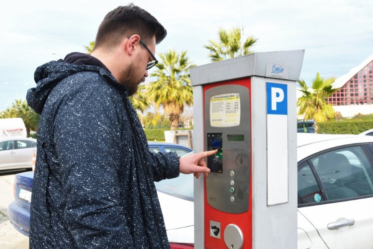
<path id="1" fill-rule="evenodd" d="M 298 204 L 321 201 L 324 201 L 324 195 L 309 164 L 304 162 L 298 167 Z"/>

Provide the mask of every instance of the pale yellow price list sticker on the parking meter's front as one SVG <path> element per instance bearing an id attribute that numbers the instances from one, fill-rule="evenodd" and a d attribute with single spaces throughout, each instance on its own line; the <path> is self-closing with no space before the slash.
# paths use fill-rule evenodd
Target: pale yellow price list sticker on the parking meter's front
<path id="1" fill-rule="evenodd" d="M 241 104 L 239 93 L 214 95 L 210 98 L 210 125 L 231 127 L 240 125 Z"/>

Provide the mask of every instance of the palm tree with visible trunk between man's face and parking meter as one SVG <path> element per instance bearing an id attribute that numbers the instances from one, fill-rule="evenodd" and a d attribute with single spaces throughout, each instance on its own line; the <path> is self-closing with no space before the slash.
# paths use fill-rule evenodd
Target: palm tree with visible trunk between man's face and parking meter
<path id="1" fill-rule="evenodd" d="M 169 52 L 159 54 L 159 57 L 160 63 L 150 75 L 157 77 L 157 80 L 149 83 L 148 95 L 157 108 L 163 106 L 165 113 L 169 115 L 171 129 L 177 129 L 184 106 L 193 103 L 189 69 L 195 65 L 189 61 L 187 51 L 179 54 L 170 49 Z"/>

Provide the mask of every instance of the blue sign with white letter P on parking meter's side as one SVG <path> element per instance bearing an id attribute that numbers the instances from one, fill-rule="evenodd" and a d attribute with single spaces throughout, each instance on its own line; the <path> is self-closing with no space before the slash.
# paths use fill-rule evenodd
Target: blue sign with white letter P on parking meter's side
<path id="1" fill-rule="evenodd" d="M 267 114 L 287 115 L 287 85 L 267 82 Z"/>

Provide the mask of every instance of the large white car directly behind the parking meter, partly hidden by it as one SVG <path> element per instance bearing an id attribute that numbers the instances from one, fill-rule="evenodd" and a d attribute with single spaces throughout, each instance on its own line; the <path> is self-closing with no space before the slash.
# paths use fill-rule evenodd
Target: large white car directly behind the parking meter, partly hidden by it
<path id="1" fill-rule="evenodd" d="M 298 249 L 372 249 L 373 136 L 298 133 L 297 161 Z M 171 248 L 194 243 L 192 179 L 156 183 Z"/>

